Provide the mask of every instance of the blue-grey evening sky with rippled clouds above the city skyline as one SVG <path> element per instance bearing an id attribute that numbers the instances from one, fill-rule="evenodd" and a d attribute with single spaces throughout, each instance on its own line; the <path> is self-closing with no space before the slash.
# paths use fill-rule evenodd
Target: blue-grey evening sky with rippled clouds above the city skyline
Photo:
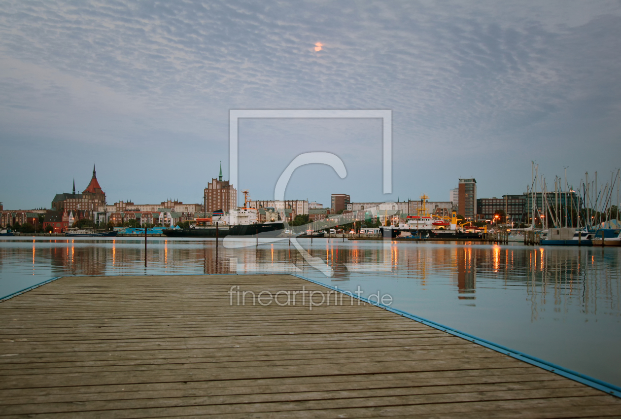
<path id="1" fill-rule="evenodd" d="M 322 44 L 315 51 L 317 43 Z M 272 199 L 448 200 L 524 192 L 568 166 L 621 166 L 621 2 L 25 1 L 0 3 L 0 201 L 50 207 L 93 164 L 109 203 L 201 202 L 229 166 L 230 109 L 391 109 L 381 120 L 239 124 L 238 189 Z"/>

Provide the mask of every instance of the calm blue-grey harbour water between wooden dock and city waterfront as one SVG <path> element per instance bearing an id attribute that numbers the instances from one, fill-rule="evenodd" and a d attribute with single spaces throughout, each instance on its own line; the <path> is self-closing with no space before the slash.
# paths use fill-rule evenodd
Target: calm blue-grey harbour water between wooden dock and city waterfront
<path id="1" fill-rule="evenodd" d="M 398 309 L 621 385 L 621 248 L 299 243 L 334 276 L 310 268 L 287 241 L 220 247 L 216 258 L 214 240 L 153 238 L 144 268 L 143 241 L 131 238 L 0 240 L 0 296 L 53 276 L 299 269 L 341 289 L 360 286 L 363 296 L 390 294 Z"/>

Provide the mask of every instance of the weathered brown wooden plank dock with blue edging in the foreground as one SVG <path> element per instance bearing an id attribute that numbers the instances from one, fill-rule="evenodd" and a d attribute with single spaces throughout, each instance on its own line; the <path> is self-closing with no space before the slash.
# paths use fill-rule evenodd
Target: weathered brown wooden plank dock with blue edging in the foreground
<path id="1" fill-rule="evenodd" d="M 237 305 L 232 286 L 327 292 L 63 277 L 2 302 L 0 419 L 621 417 L 621 399 L 379 307 Z"/>

